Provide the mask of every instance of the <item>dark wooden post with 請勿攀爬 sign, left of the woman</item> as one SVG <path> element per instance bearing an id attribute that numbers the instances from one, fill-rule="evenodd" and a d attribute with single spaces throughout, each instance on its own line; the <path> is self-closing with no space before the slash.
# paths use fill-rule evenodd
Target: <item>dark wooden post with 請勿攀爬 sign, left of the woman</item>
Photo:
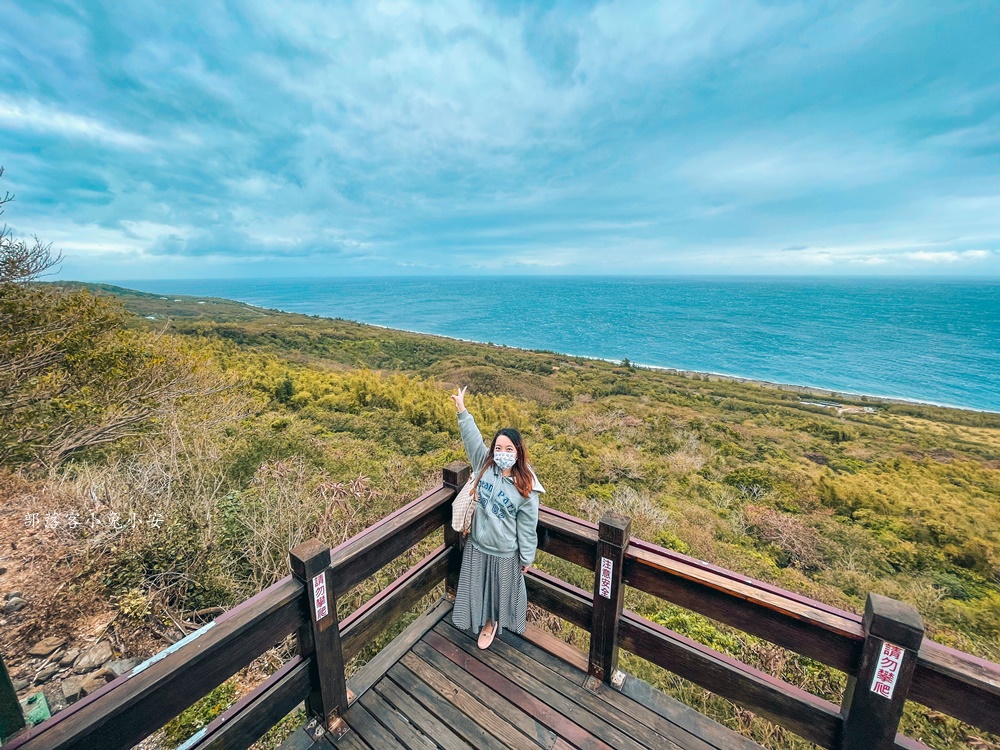
<path id="1" fill-rule="evenodd" d="M 340 646 L 340 623 L 337 619 L 337 592 L 330 572 L 330 547 L 310 539 L 288 553 L 292 575 L 305 584 L 310 622 L 299 635 L 303 658 L 312 656 L 312 690 L 306 709 L 318 718 L 323 728 L 342 734 L 347 724 L 341 717 L 347 711 L 347 678 L 344 653 Z"/>

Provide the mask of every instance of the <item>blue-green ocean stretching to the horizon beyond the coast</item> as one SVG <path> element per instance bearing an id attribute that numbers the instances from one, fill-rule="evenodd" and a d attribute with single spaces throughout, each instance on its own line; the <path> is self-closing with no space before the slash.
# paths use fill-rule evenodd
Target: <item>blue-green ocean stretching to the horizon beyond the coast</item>
<path id="1" fill-rule="evenodd" d="M 1000 412 L 1000 280 L 546 276 L 112 283 L 472 341 Z"/>

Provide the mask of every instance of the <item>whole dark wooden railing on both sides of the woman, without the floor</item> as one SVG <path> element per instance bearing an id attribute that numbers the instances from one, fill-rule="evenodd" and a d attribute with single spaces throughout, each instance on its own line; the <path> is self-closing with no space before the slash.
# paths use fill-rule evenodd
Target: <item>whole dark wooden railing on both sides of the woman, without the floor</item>
<path id="1" fill-rule="evenodd" d="M 4 747 L 131 747 L 292 633 L 298 655 L 184 750 L 247 747 L 302 701 L 318 735 L 343 731 L 345 663 L 442 580 L 454 595 L 461 540 L 451 501 L 468 476 L 452 464 L 441 486 L 339 547 L 310 540 L 292 550 L 292 575 Z M 442 526 L 443 545 L 338 621 L 339 596 Z M 825 748 L 924 747 L 896 734 L 906 700 L 1000 732 L 1000 665 L 923 640 L 912 607 L 873 595 L 861 618 L 635 539 L 619 516 L 592 524 L 543 507 L 538 532 L 539 549 L 595 573 L 593 591 L 535 568 L 526 576 L 532 603 L 591 634 L 595 682 L 614 683 L 624 648 Z M 841 705 L 625 610 L 629 586 L 846 673 Z M 871 690 L 883 642 L 900 647 L 891 698 Z"/>

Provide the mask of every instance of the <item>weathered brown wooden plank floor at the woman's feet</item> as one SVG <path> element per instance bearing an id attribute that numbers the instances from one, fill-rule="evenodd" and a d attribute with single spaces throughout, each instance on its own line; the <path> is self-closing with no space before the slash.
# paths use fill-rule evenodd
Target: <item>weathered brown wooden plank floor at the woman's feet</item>
<path id="1" fill-rule="evenodd" d="M 313 748 L 761 750 L 631 675 L 592 692 L 578 666 L 519 636 L 480 651 L 450 609 L 422 615 L 355 675 L 351 731 Z"/>

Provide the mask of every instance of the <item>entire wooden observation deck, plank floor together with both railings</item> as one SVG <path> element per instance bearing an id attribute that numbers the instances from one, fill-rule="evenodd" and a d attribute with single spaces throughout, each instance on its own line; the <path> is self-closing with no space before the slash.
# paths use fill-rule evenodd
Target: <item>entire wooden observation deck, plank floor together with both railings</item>
<path id="1" fill-rule="evenodd" d="M 909 605 L 870 595 L 858 617 L 631 537 L 627 518 L 595 525 L 547 508 L 539 549 L 594 571 L 594 588 L 532 569 L 528 599 L 590 633 L 588 654 L 530 627 L 480 651 L 450 624 L 445 598 L 347 680 L 345 663 L 437 585 L 453 594 L 451 501 L 468 471 L 452 464 L 439 487 L 336 549 L 310 540 L 292 550 L 292 575 L 4 748 L 130 748 L 293 633 L 298 655 L 183 750 L 246 748 L 303 701 L 311 718 L 287 750 L 758 747 L 623 675 L 620 648 L 822 748 L 925 748 L 897 733 L 906 701 L 1000 733 L 1000 665 L 924 639 Z M 339 596 L 442 526 L 444 544 L 338 619 Z M 840 705 L 623 609 L 627 586 L 846 673 Z"/>

